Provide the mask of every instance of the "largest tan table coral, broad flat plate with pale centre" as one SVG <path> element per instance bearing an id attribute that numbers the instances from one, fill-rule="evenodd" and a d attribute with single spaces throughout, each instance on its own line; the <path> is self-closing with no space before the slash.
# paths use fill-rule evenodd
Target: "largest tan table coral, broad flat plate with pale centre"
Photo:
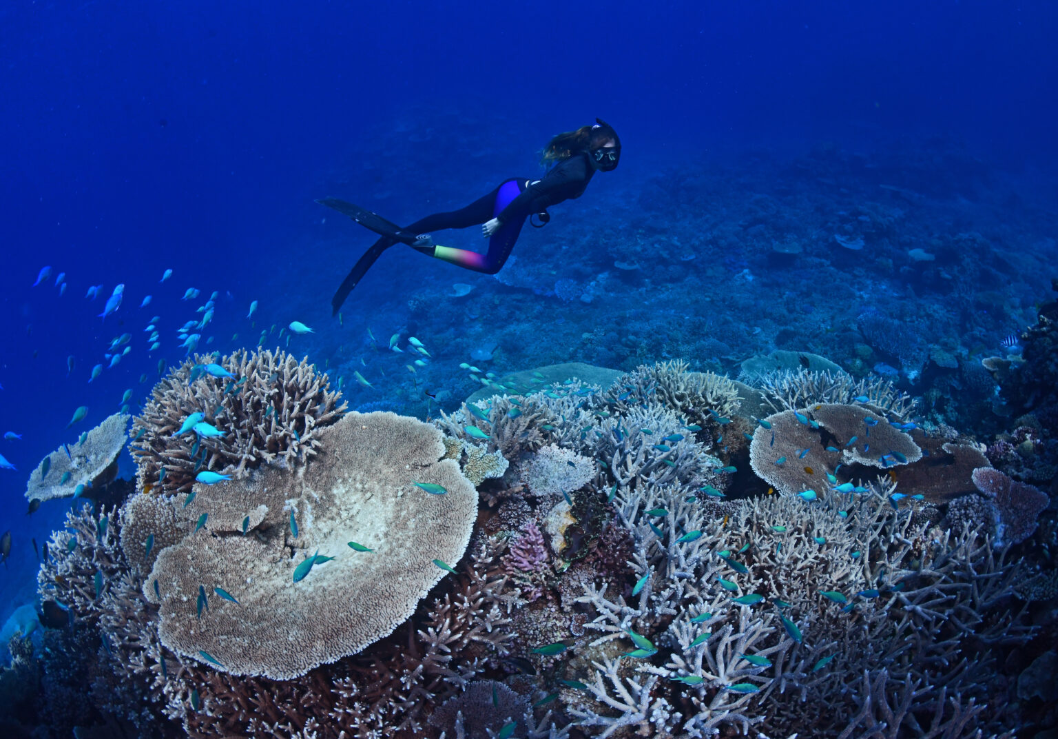
<path id="1" fill-rule="evenodd" d="M 296 678 L 390 633 L 443 577 L 432 560 L 462 556 L 477 493 L 454 461 L 438 462 L 437 429 L 388 412 L 350 413 L 316 440 L 314 458 L 295 471 L 266 468 L 212 490 L 196 486 L 202 502 L 194 505 L 204 512 L 213 508 L 206 495 L 216 494 L 258 500 L 268 513 L 250 535 L 205 526 L 159 554 L 148 581 L 159 584 L 167 648 L 193 659 L 205 652 L 237 674 Z M 349 541 L 375 552 L 354 552 Z M 295 567 L 317 552 L 335 561 L 317 562 L 294 582 Z M 151 585 L 144 594 L 158 601 Z M 201 617 L 200 587 L 208 594 Z M 238 603 L 215 597 L 214 588 Z"/>

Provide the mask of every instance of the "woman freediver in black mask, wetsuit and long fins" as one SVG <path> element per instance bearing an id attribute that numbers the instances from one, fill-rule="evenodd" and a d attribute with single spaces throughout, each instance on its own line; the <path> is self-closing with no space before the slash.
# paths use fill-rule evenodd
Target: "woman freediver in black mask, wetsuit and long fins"
<path id="1" fill-rule="evenodd" d="M 587 188 L 591 176 L 597 170 L 613 172 L 617 168 L 620 157 L 621 140 L 617 131 L 609 124 L 596 119 L 592 126 L 581 126 L 574 131 L 560 133 L 551 139 L 544 148 L 543 161 L 554 163 L 554 166 L 542 179 L 505 180 L 494 191 L 466 208 L 448 213 L 435 213 L 405 229 L 344 200 L 336 198 L 320 200 L 322 204 L 344 213 L 361 226 L 381 235 L 381 238 L 357 260 L 334 293 L 331 300 L 334 313 L 338 313 L 345 299 L 382 252 L 398 242 L 406 244 L 427 256 L 475 272 L 495 274 L 510 256 L 526 218 L 535 215 L 541 222 L 540 226 L 536 223 L 533 226 L 536 228 L 544 226 L 550 220 L 548 206 L 569 198 L 579 198 Z M 466 229 L 476 223 L 482 224 L 481 231 L 489 239 L 489 249 L 485 254 L 435 245 L 430 235 L 432 231 Z"/>

